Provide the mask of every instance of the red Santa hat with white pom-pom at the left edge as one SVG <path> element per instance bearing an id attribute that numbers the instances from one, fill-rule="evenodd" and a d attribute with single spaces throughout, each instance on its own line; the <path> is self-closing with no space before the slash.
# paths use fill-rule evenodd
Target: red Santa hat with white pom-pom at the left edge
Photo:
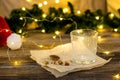
<path id="1" fill-rule="evenodd" d="M 15 50 L 21 47 L 22 40 L 19 35 L 12 33 L 5 19 L 0 16 L 0 46 L 6 45 Z"/>

